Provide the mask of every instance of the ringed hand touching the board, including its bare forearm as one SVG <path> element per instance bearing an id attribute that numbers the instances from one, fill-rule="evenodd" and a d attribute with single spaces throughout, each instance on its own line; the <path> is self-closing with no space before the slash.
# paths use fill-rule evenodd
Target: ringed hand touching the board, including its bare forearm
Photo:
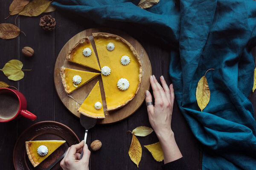
<path id="1" fill-rule="evenodd" d="M 148 119 L 160 141 L 164 163 L 166 164 L 182 157 L 171 127 L 174 103 L 173 85 L 171 84 L 168 87 L 163 76 L 160 77 L 163 87 L 157 82 L 154 75 L 150 76 L 149 81 L 153 90 L 155 103 L 154 105 L 151 103 L 152 96 L 149 91 L 146 91 L 145 100 L 148 109 Z"/>

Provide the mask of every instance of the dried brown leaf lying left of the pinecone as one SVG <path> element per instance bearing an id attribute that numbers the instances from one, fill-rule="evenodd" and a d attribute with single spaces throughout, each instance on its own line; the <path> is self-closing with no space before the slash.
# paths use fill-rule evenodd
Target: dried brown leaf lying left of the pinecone
<path id="1" fill-rule="evenodd" d="M 20 34 L 20 28 L 13 24 L 2 23 L 0 24 L 0 38 L 12 39 Z"/>

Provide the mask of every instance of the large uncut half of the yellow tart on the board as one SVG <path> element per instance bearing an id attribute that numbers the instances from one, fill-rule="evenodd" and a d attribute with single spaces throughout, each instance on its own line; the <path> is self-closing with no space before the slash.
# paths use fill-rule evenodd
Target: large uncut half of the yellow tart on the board
<path id="1" fill-rule="evenodd" d="M 129 42 L 117 35 L 98 32 L 93 33 L 93 39 L 101 68 L 108 66 L 111 69 L 111 73 L 108 76 L 102 74 L 102 81 L 107 110 L 112 111 L 126 105 L 139 91 L 142 79 L 140 57 Z M 107 49 L 107 45 L 110 42 L 115 46 L 112 51 Z M 128 65 L 121 64 L 120 59 L 122 56 L 130 58 Z M 130 84 L 125 91 L 117 88 L 117 82 L 121 78 L 127 79 Z"/>

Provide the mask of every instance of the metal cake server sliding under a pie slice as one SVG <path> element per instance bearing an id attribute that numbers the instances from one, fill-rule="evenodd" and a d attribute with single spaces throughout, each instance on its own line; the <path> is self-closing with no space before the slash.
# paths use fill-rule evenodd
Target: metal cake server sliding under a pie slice
<path id="1" fill-rule="evenodd" d="M 94 127 L 96 122 L 97 122 L 97 119 L 94 119 L 94 118 L 91 118 L 91 117 L 88 117 L 88 116 L 84 116 L 83 114 L 80 114 L 80 123 L 85 128 L 84 144 L 86 143 L 86 138 L 87 138 L 88 130 L 90 128 Z M 80 159 L 82 157 L 83 157 L 83 150 L 81 152 Z"/>

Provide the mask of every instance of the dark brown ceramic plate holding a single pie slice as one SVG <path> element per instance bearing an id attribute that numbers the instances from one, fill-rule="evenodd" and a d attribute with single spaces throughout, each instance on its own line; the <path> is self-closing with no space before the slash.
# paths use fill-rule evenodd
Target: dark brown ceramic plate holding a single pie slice
<path id="1" fill-rule="evenodd" d="M 66 143 L 61 145 L 61 147 L 55 150 L 47 159 L 34 168 L 28 159 L 25 149 L 25 142 L 32 140 L 65 140 Z M 63 155 L 70 145 L 79 142 L 76 133 L 66 125 L 54 121 L 35 123 L 24 130 L 17 139 L 13 150 L 13 164 L 15 170 L 45 170 L 50 164 Z M 61 167 L 60 164 L 57 163 L 51 170 L 59 169 L 61 169 Z"/>

